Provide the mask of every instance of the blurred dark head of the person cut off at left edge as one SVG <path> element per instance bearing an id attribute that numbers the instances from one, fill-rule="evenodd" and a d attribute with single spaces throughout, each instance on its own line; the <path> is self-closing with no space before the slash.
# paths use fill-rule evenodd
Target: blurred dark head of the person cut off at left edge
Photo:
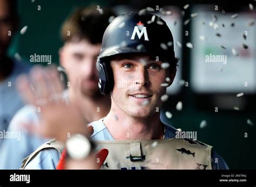
<path id="1" fill-rule="evenodd" d="M 11 38 L 17 28 L 17 1 L 0 0 L 0 59 L 6 55 Z"/>

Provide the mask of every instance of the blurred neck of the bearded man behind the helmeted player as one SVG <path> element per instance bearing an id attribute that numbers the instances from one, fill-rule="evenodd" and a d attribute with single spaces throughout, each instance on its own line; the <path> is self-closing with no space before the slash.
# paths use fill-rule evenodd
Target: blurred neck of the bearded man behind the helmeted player
<path id="1" fill-rule="evenodd" d="M 89 96 L 83 96 L 77 92 L 69 90 L 70 102 L 76 103 L 82 111 L 84 118 L 89 122 L 97 121 L 109 113 L 111 100 L 108 96 L 100 96 L 97 99 L 92 99 Z"/>

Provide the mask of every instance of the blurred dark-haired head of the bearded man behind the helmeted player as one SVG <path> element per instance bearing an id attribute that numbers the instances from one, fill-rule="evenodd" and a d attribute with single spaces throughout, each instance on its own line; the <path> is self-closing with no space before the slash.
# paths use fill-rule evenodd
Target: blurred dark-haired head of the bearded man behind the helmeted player
<path id="1" fill-rule="evenodd" d="M 96 70 L 104 31 L 114 13 L 109 9 L 99 12 L 96 6 L 77 9 L 63 23 L 60 64 L 65 68 L 70 88 L 89 97 L 100 96 Z"/>

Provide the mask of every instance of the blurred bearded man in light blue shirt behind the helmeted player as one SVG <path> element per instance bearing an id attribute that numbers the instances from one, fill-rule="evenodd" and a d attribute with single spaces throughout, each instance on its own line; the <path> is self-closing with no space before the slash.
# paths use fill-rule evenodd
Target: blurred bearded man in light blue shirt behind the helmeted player
<path id="1" fill-rule="evenodd" d="M 59 49 L 59 61 L 68 77 L 67 90 L 63 91 L 60 84 L 56 88 L 47 87 L 55 79 L 46 76 L 48 75 L 47 70 L 43 70 L 41 67 L 32 68 L 31 75 L 34 77 L 31 81 L 35 89 L 33 94 L 41 98 L 41 103 L 47 95 L 47 89 L 50 88 L 54 90 L 56 96 L 60 96 L 65 102 L 78 103 L 79 106 L 77 107 L 83 111 L 81 115 L 89 121 L 98 120 L 109 112 L 111 100 L 109 96 L 100 94 L 96 61 L 100 52 L 103 33 L 109 25 L 109 18 L 113 17 L 114 13 L 110 9 L 103 9 L 103 11 L 102 15 L 96 6 L 77 9 L 62 25 L 61 37 L 64 45 Z M 42 77 L 40 75 L 42 73 L 45 78 L 48 78 L 48 83 L 41 82 Z M 42 83 L 45 87 L 41 87 Z M 42 107 L 39 112 L 38 104 L 33 103 L 24 106 L 12 119 L 10 131 L 19 130 L 22 126 L 39 127 L 41 125 L 39 116 L 41 116 L 41 112 L 45 111 L 42 111 L 44 110 Z M 52 115 L 55 115 L 55 112 L 52 112 Z M 72 123 L 69 125 L 72 126 Z M 23 129 L 20 141 L 5 141 L 1 151 L 3 155 L 2 168 L 19 169 L 22 160 L 47 140 Z M 52 154 L 52 150 L 41 155 L 41 160 L 44 160 L 48 154 Z M 52 160 L 52 162 L 45 167 L 51 168 L 51 164 L 57 164 L 58 160 Z"/>

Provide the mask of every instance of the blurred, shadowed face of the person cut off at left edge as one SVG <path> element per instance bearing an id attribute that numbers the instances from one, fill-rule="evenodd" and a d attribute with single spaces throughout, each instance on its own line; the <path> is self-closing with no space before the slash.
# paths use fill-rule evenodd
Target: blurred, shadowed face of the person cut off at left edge
<path id="1" fill-rule="evenodd" d="M 14 23 L 11 21 L 9 11 L 8 0 L 0 0 L 0 56 L 3 55 L 8 48 L 11 35 L 8 35 L 9 31 L 13 31 Z"/>

